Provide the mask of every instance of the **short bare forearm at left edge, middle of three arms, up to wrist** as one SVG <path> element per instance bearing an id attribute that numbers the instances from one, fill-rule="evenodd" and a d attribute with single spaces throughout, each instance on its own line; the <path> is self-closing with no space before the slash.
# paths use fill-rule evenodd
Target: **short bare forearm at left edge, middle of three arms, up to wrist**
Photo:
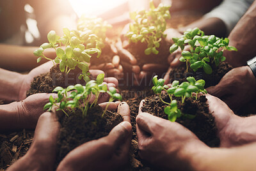
<path id="1" fill-rule="evenodd" d="M 19 101 L 22 80 L 25 75 L 0 68 L 0 99 L 5 102 Z"/>

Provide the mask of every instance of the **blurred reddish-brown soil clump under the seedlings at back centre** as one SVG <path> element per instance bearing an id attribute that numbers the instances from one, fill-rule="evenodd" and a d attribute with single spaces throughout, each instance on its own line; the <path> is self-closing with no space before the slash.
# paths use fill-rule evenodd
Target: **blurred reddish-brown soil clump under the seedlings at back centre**
<path id="1" fill-rule="evenodd" d="M 170 43 L 168 43 L 165 40 L 161 40 L 159 48 L 157 50 L 159 51 L 159 54 L 153 54 L 146 55 L 144 53 L 144 50 L 147 48 L 146 43 L 141 43 L 140 41 L 137 43 L 130 42 L 129 47 L 127 47 L 127 50 L 131 52 L 131 54 L 138 60 L 138 65 L 141 67 L 143 64 L 167 64 L 167 57 L 170 55 L 169 48 Z"/>

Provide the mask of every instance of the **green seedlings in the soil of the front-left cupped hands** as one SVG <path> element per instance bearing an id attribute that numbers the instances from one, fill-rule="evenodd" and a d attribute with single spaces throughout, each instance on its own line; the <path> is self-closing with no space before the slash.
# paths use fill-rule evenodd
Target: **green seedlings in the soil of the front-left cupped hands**
<path id="1" fill-rule="evenodd" d="M 101 73 L 97 76 L 96 80 L 90 80 L 85 86 L 81 84 L 69 85 L 66 89 L 63 89 L 63 87 L 56 87 L 53 92 L 58 93 L 58 98 L 54 99 L 50 96 L 49 103 L 44 106 L 44 110 L 48 109 L 48 111 L 51 111 L 52 107 L 56 106 L 58 107 L 57 111 L 62 110 L 68 116 L 66 111 L 75 112 L 78 108 L 82 111 L 83 117 L 85 117 L 88 108 L 95 107 L 95 105 L 97 105 L 100 93 L 108 93 L 110 95 L 109 102 L 113 100 L 122 100 L 122 96 L 116 93 L 116 89 L 114 87 L 109 87 L 108 91 L 107 85 L 102 84 L 103 80 L 104 74 Z M 68 93 L 70 91 L 72 92 Z M 95 96 L 95 100 L 90 103 L 92 94 Z M 102 117 L 105 114 L 108 105 L 106 106 Z"/>

